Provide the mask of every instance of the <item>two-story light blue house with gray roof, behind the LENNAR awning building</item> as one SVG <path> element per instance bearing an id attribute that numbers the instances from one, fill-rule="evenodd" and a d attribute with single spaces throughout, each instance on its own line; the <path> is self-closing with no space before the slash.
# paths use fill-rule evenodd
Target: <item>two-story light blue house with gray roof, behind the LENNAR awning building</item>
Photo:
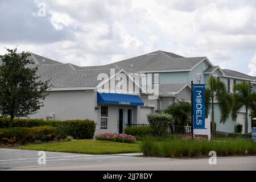
<path id="1" fill-rule="evenodd" d="M 133 72 L 152 74 L 152 77 L 154 77 L 155 73 L 159 73 L 159 79 L 152 80 L 152 82 L 159 82 L 159 86 L 164 84 L 190 84 L 191 81 L 195 84 L 207 84 L 211 76 L 224 81 L 228 92 L 231 93 L 233 92 L 233 85 L 242 81 L 249 81 L 253 92 L 255 92 L 256 86 L 255 77 L 229 69 L 221 69 L 210 63 L 207 57 L 183 57 L 171 52 L 156 51 L 118 61 L 110 65 L 117 65 L 118 67 L 129 69 Z M 185 101 L 189 100 L 187 99 Z M 164 107 L 167 107 L 167 105 Z M 164 107 L 161 109 L 166 109 Z M 250 113 L 246 116 L 245 110 L 242 109 L 240 113 L 238 113 L 237 121 L 233 121 L 232 118 L 229 117 L 225 123 L 220 123 L 218 104 L 216 103 L 214 106 L 214 118 L 217 123 L 218 131 L 233 133 L 237 123 L 241 123 L 244 126 L 245 117 L 249 118 L 248 131 L 250 132 Z"/>

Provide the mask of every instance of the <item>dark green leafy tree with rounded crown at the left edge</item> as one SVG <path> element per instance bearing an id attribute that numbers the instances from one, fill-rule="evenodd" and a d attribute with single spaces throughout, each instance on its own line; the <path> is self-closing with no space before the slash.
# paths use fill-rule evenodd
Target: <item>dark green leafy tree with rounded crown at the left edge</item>
<path id="1" fill-rule="evenodd" d="M 47 96 L 48 81 L 43 82 L 36 76 L 37 68 L 29 60 L 29 52 L 16 53 L 17 48 L 7 49 L 6 55 L 0 56 L 0 114 L 10 117 L 9 127 L 13 127 L 14 117 L 26 117 L 36 113 L 43 106 Z"/>

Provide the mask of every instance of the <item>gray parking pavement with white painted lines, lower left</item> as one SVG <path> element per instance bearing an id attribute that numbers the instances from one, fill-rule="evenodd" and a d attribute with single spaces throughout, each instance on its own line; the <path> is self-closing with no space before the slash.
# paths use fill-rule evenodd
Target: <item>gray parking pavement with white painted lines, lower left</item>
<path id="1" fill-rule="evenodd" d="M 0 169 L 13 168 L 32 168 L 41 166 L 63 166 L 75 164 L 91 164 L 91 163 L 106 163 L 117 162 L 122 158 L 122 161 L 133 160 L 129 156 L 119 155 L 90 155 L 90 154 L 72 154 L 64 152 L 46 152 L 46 164 L 39 164 L 39 151 L 32 150 L 14 150 L 0 149 Z M 135 160 L 135 159 L 134 159 Z M 57 168 L 56 168 L 57 169 Z"/>

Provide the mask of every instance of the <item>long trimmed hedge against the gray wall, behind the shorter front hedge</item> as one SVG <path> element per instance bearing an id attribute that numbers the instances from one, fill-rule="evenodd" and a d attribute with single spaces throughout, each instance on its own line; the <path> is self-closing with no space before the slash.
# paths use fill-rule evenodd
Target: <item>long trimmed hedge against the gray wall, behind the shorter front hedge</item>
<path id="1" fill-rule="evenodd" d="M 0 118 L 0 127 L 9 127 L 10 118 Z M 96 122 L 85 120 L 67 121 L 46 121 L 43 119 L 19 119 L 15 118 L 13 127 L 37 127 L 53 126 L 56 127 L 56 138 L 66 138 L 72 136 L 77 139 L 92 139 L 96 130 Z"/>

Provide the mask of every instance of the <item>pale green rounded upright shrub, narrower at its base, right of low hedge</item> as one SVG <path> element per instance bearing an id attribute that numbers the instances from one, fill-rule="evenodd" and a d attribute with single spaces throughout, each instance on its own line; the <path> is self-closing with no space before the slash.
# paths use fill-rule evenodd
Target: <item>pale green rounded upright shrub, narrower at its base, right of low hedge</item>
<path id="1" fill-rule="evenodd" d="M 147 121 L 153 129 L 154 135 L 163 136 L 172 123 L 172 116 L 165 113 L 147 114 Z"/>

